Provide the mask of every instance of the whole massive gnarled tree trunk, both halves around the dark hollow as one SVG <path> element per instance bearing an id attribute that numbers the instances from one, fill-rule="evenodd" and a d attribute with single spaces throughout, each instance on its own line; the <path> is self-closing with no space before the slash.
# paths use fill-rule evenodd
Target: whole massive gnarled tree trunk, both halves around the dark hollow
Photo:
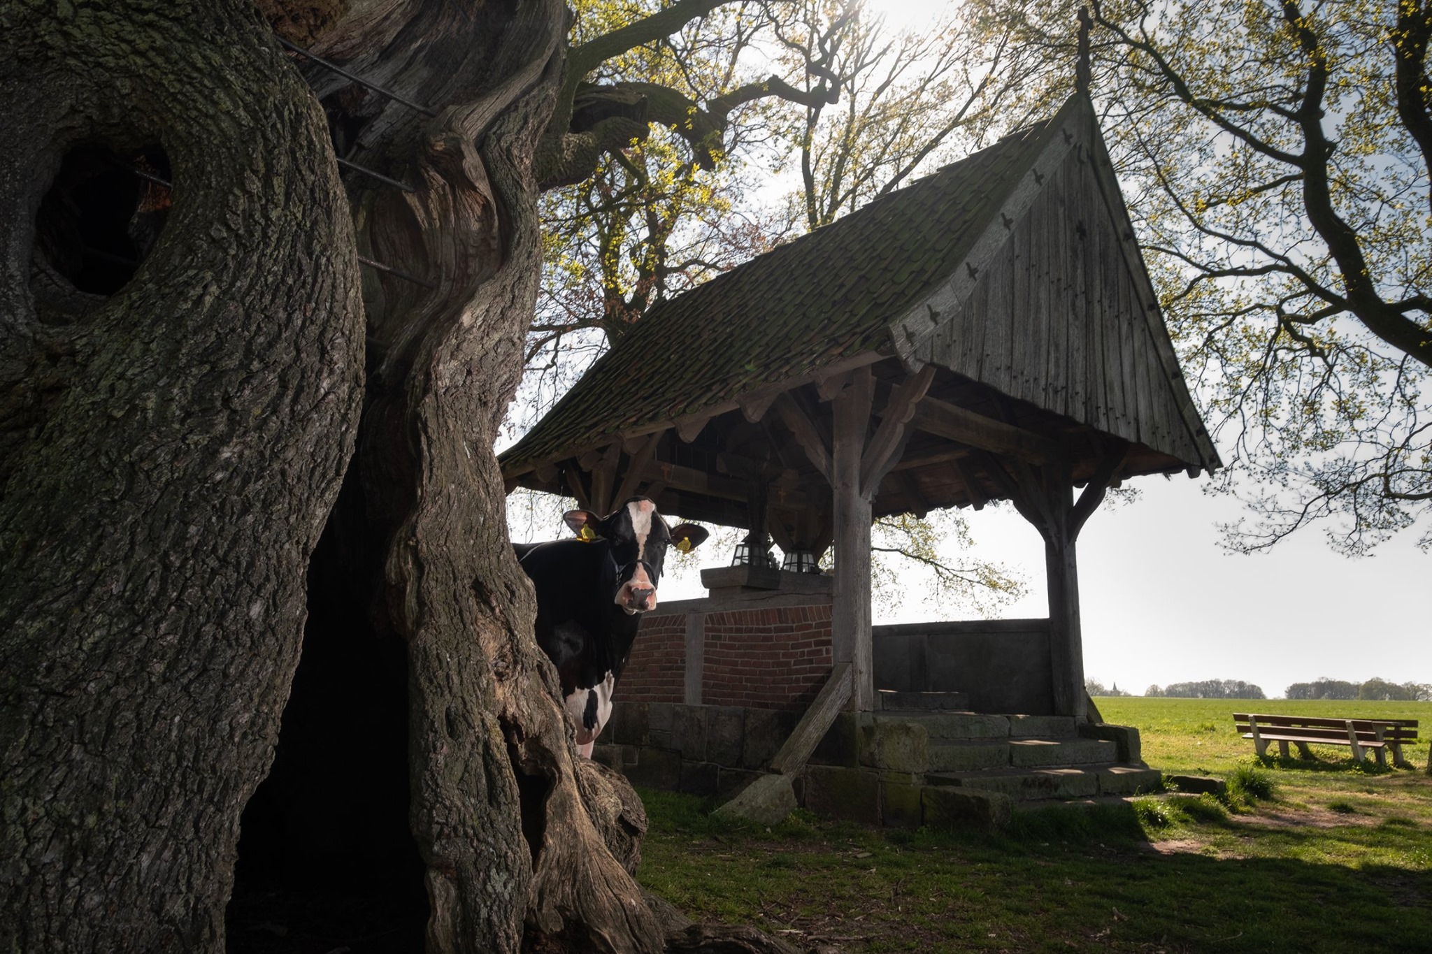
<path id="1" fill-rule="evenodd" d="M 682 933 L 642 894 L 640 802 L 577 761 L 507 541 L 491 446 L 534 310 L 564 6 L 259 7 L 0 14 L 4 948 L 222 950 L 332 508 L 341 565 L 311 572 L 377 594 L 372 634 L 407 646 L 430 951 L 788 950 Z M 106 137 L 163 144 L 173 209 L 107 300 L 34 266 L 37 309 L 40 196 L 67 144 Z M 341 183 L 334 146 L 412 192 Z M 422 282 L 359 279 L 355 250 Z"/>

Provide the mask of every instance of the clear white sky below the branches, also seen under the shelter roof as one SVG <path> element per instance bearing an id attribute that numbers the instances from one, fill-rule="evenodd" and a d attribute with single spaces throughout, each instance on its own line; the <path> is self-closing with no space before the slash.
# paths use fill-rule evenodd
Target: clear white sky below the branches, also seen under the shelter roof
<path id="1" fill-rule="evenodd" d="M 1106 503 L 1078 542 L 1084 671 L 1104 685 L 1143 694 L 1150 684 L 1243 679 L 1280 697 L 1319 677 L 1360 682 L 1432 682 L 1432 555 L 1413 545 L 1419 528 L 1348 559 L 1317 528 L 1270 554 L 1233 555 L 1216 523 L 1242 505 L 1200 492 L 1206 481 L 1131 481 L 1133 503 Z M 997 615 L 1048 615 L 1044 545 L 1012 508 L 968 512 L 975 555 L 1022 572 L 1030 592 Z M 729 549 L 697 551 L 722 566 Z M 918 589 L 918 584 L 916 584 Z M 663 581 L 663 599 L 705 596 L 696 574 Z M 876 624 L 975 618 L 909 601 L 876 609 Z"/>

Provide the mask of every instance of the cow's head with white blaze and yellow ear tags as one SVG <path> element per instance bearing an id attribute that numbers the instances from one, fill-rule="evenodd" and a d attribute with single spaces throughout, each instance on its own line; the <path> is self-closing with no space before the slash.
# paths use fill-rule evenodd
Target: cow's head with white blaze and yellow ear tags
<path id="1" fill-rule="evenodd" d="M 707 533 L 695 523 L 667 526 L 656 503 L 633 496 L 607 518 L 591 511 L 567 511 L 563 515 L 571 532 L 607 551 L 601 585 L 610 588 L 611 601 L 627 614 L 656 609 L 656 584 L 662 579 L 666 548 L 687 552 Z"/>

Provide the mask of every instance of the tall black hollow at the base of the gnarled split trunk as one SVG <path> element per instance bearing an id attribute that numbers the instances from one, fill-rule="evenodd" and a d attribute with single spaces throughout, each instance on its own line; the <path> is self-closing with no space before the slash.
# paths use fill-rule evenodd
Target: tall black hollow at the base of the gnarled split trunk
<path id="1" fill-rule="evenodd" d="M 371 612 L 381 548 L 349 468 L 308 569 L 304 654 L 274 768 L 241 821 L 231 954 L 421 951 L 428 904 L 408 828 L 408 664 Z"/>

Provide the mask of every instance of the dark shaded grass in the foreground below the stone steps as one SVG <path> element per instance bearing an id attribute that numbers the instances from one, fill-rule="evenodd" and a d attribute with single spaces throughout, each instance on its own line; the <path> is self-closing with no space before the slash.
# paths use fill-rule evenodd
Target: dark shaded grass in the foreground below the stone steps
<path id="1" fill-rule="evenodd" d="M 642 795 L 644 884 L 695 917 L 786 931 L 806 950 L 832 938 L 848 953 L 1429 950 L 1432 830 L 1416 822 L 1250 831 L 1209 818 L 1174 830 L 1264 842 L 1262 857 L 1220 857 L 1196 838 L 1156 850 L 1133 805 L 1021 812 L 1001 832 L 806 812 L 768 830 L 715 822 L 699 798 Z M 1342 840 L 1411 845 L 1408 867 L 1296 857 L 1337 857 Z"/>

